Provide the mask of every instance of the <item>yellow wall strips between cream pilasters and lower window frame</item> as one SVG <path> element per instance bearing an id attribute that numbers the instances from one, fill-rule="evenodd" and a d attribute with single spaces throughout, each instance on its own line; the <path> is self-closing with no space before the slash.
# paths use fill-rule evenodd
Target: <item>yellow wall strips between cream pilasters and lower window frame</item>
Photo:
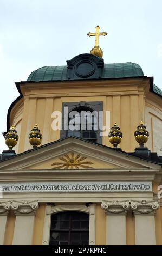
<path id="1" fill-rule="evenodd" d="M 153 187 L 156 185 L 154 184 Z M 43 227 L 44 227 L 44 212 L 45 205 L 41 204 L 36 211 L 34 230 L 33 230 L 33 245 L 42 245 Z M 15 227 L 14 212 L 10 211 L 7 218 L 5 228 L 4 245 L 12 245 L 14 227 Z M 162 245 L 162 206 L 156 211 L 155 228 L 157 245 Z M 96 204 L 96 245 L 106 245 L 106 214 L 101 209 L 100 204 Z M 128 211 L 126 215 L 126 245 L 135 245 L 135 223 L 132 211 Z"/>

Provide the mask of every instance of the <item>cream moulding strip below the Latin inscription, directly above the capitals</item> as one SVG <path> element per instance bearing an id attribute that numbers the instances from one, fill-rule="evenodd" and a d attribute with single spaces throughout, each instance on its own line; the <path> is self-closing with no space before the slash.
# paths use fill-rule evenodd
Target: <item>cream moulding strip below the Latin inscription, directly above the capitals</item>
<path id="1" fill-rule="evenodd" d="M 102 201 L 106 202 L 108 201 L 118 201 L 118 200 L 131 200 L 134 198 L 135 200 L 152 200 L 153 193 L 152 191 L 148 192 L 82 192 L 82 193 L 53 193 L 53 192 L 40 192 L 40 193 L 12 193 L 12 192 L 6 192 L 4 194 L 4 198 L 1 200 L 1 202 L 6 202 L 9 200 L 12 201 L 19 201 L 22 198 L 24 201 L 30 202 L 31 198 L 35 201 L 40 203 L 54 203 L 54 204 L 60 204 L 60 203 L 84 203 L 85 202 L 92 202 L 92 203 L 99 203 L 101 204 Z"/>

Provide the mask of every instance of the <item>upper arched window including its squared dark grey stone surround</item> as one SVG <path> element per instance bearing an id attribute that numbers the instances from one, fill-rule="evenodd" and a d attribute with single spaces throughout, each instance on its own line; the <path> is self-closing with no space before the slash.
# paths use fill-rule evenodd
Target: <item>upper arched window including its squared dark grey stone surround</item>
<path id="1" fill-rule="evenodd" d="M 75 136 L 86 139 L 90 142 L 102 144 L 102 136 L 100 134 L 100 126 L 102 127 L 102 117 L 100 112 L 103 111 L 102 101 L 81 101 L 81 102 L 63 102 L 62 103 L 62 130 L 60 131 L 60 138 Z M 77 118 L 73 115 L 77 113 Z M 87 113 L 85 120 L 82 118 L 82 112 Z M 90 120 L 90 115 L 92 120 Z M 70 129 L 69 129 L 70 124 Z M 85 129 L 81 126 L 85 125 Z M 90 128 L 90 125 L 92 129 Z M 75 126 L 75 130 L 73 130 Z"/>

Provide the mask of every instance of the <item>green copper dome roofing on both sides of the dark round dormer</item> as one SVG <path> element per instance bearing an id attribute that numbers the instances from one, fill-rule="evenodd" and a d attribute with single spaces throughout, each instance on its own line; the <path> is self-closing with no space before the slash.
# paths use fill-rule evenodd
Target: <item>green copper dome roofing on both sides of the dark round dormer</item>
<path id="1" fill-rule="evenodd" d="M 66 81 L 67 66 L 43 66 L 33 71 L 27 81 Z M 124 78 L 144 76 L 141 67 L 132 62 L 104 64 L 102 78 Z M 79 78 L 83 79 L 83 78 Z"/>

